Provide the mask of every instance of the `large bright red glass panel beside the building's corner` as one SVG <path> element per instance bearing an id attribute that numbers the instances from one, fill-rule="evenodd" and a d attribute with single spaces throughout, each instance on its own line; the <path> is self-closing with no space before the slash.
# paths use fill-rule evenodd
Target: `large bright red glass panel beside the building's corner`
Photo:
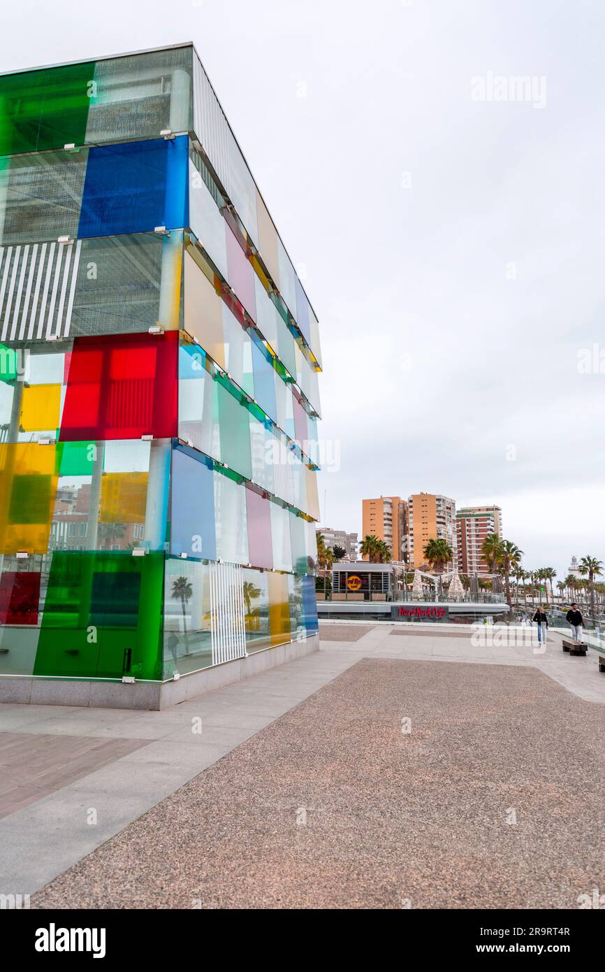
<path id="1" fill-rule="evenodd" d="M 178 332 L 77 337 L 62 441 L 177 435 Z"/>

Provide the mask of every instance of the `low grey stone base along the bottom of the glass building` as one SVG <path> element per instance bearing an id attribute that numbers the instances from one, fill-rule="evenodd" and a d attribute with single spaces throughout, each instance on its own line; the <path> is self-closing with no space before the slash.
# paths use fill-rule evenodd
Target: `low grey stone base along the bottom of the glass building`
<path id="1" fill-rule="evenodd" d="M 98 709 L 167 709 L 196 695 L 250 678 L 319 651 L 319 635 L 254 651 L 170 681 L 88 681 L 65 678 L 0 677 L 0 702 Z"/>

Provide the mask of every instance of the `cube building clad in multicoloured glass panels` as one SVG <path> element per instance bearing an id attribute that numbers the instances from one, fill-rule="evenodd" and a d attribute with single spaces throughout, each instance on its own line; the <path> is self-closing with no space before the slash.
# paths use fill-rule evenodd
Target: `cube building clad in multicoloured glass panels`
<path id="1" fill-rule="evenodd" d="M 191 44 L 0 77 L 0 330 L 0 699 L 315 648 L 318 320 Z"/>

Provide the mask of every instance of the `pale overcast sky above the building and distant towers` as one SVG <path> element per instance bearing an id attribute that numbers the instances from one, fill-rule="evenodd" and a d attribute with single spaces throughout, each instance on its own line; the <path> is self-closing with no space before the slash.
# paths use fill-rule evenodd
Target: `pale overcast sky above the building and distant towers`
<path id="1" fill-rule="evenodd" d="M 602 0 L 33 0 L 3 23 L 4 71 L 195 43 L 319 315 L 327 525 L 424 490 L 500 503 L 526 568 L 605 560 Z"/>

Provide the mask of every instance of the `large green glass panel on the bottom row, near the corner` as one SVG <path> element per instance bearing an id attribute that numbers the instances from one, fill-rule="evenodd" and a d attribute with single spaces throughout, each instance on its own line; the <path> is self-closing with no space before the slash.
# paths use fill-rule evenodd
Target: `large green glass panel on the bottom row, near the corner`
<path id="1" fill-rule="evenodd" d="M 161 677 L 164 555 L 55 552 L 34 675 Z"/>

